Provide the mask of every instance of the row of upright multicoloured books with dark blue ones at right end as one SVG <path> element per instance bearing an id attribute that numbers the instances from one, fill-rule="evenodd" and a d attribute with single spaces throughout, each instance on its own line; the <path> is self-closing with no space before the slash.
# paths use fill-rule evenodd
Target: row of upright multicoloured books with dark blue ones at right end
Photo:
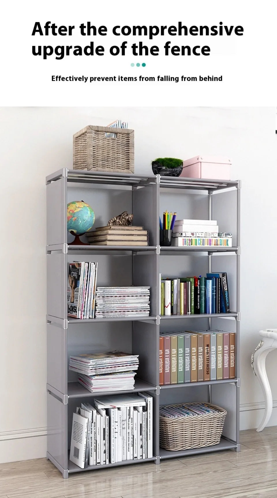
<path id="1" fill-rule="evenodd" d="M 161 315 L 229 313 L 227 273 L 207 273 L 207 277 L 162 278 Z"/>

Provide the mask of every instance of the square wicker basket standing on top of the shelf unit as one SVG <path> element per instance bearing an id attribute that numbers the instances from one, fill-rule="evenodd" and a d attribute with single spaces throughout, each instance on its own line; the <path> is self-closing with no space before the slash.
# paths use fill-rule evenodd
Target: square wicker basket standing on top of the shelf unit
<path id="1" fill-rule="evenodd" d="M 106 132 L 117 133 L 106 138 Z M 134 173 L 134 130 L 86 126 L 73 135 L 73 169 Z"/>

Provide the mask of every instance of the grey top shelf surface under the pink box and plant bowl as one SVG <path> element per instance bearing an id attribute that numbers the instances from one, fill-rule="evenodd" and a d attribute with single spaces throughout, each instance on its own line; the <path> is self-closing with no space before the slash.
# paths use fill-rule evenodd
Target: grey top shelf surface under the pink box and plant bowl
<path id="1" fill-rule="evenodd" d="M 196 190 L 222 190 L 232 187 L 238 187 L 239 180 L 212 180 L 206 178 L 169 178 L 168 176 L 160 177 L 160 187 L 165 188 L 185 188 Z"/>

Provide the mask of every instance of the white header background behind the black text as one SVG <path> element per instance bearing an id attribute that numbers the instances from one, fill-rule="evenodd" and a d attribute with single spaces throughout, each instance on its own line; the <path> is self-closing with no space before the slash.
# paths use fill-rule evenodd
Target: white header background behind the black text
<path id="1" fill-rule="evenodd" d="M 274 106 L 276 104 L 276 5 L 264 0 L 103 2 L 71 0 L 5 2 L 0 31 L 0 105 L 4 106 Z M 35 22 L 44 26 L 75 25 L 72 36 L 31 36 Z M 105 25 L 107 36 L 81 36 L 79 25 Z M 241 25 L 243 36 L 114 36 L 115 25 Z M 32 45 L 81 45 L 94 41 L 103 56 L 32 55 Z M 112 56 L 110 46 L 128 42 L 125 56 Z M 160 48 L 158 56 L 135 57 L 133 42 Z M 164 44 L 208 45 L 210 56 L 164 55 Z M 140 67 L 131 67 L 131 63 Z M 141 67 L 145 62 L 146 66 Z M 128 83 L 52 82 L 61 76 L 221 76 L 222 82 Z"/>

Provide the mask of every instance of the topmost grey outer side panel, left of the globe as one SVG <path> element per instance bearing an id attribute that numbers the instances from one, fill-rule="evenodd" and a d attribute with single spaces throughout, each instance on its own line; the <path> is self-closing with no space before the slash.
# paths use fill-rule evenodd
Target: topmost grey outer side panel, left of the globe
<path id="1" fill-rule="evenodd" d="M 65 244 L 67 242 L 67 197 L 66 179 L 49 183 L 46 188 L 47 235 L 46 244 Z"/>

